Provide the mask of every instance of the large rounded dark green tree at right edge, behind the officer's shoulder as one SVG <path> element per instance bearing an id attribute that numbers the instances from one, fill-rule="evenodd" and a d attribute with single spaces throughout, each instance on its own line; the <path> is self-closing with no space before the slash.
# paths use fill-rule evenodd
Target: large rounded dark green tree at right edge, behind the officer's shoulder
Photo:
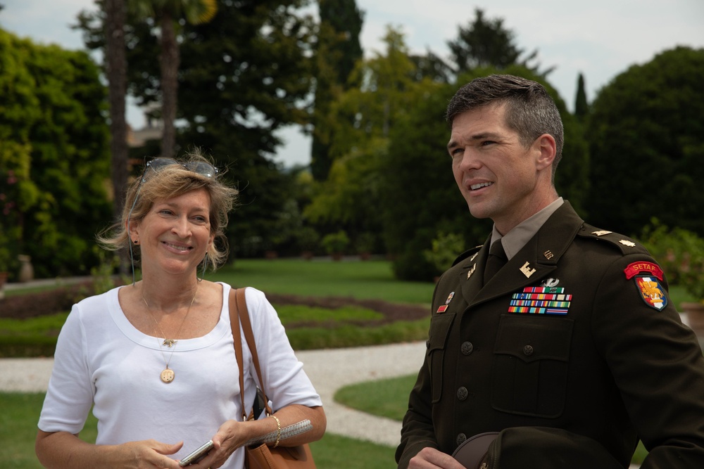
<path id="1" fill-rule="evenodd" d="M 589 118 L 593 224 L 625 234 L 651 217 L 704 234 L 704 49 L 677 47 L 601 89 Z"/>

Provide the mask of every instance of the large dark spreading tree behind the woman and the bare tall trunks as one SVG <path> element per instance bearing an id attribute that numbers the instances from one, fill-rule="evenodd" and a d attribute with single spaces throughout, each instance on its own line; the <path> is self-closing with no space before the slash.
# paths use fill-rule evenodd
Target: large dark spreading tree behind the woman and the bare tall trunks
<path id="1" fill-rule="evenodd" d="M 306 3 L 220 0 L 209 23 L 180 28 L 177 148 L 201 148 L 239 184 L 241 205 L 228 235 L 233 255 L 260 255 L 295 198 L 294 176 L 270 156 L 282 143 L 277 130 L 309 117 L 315 30 L 313 18 L 298 12 Z M 105 41 L 100 15 L 80 15 L 91 49 Z M 160 93 L 159 45 L 149 23 L 130 14 L 125 41 L 128 90 L 149 108 Z"/>

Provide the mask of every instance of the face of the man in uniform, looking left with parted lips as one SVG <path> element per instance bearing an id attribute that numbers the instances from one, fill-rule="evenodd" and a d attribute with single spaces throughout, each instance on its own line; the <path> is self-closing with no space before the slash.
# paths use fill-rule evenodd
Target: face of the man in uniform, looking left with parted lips
<path id="1" fill-rule="evenodd" d="M 525 148 L 505 124 L 503 104 L 455 117 L 447 148 L 455 182 L 474 217 L 491 218 L 505 234 L 539 210 L 536 190 L 545 180 L 539 177 L 545 168 L 540 140 Z"/>

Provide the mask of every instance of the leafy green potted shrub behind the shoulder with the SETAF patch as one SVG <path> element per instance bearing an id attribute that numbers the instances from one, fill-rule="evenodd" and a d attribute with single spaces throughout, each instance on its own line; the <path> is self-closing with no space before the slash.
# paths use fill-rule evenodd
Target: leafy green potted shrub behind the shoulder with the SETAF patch
<path id="1" fill-rule="evenodd" d="M 671 285 L 680 285 L 694 302 L 679 304 L 689 326 L 704 336 L 704 238 L 686 229 L 667 229 L 657 219 L 643 231 L 643 245 L 655 257 Z"/>

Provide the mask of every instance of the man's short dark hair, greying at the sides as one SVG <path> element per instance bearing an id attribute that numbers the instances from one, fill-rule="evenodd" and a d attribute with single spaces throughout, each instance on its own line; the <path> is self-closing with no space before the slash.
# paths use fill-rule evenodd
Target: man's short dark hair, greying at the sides
<path id="1" fill-rule="evenodd" d="M 542 134 L 555 139 L 555 169 L 562 159 L 565 141 L 560 111 L 545 87 L 537 82 L 514 75 L 489 75 L 465 84 L 447 106 L 446 119 L 450 126 L 458 115 L 489 104 L 506 105 L 506 124 L 517 131 L 527 148 Z"/>

